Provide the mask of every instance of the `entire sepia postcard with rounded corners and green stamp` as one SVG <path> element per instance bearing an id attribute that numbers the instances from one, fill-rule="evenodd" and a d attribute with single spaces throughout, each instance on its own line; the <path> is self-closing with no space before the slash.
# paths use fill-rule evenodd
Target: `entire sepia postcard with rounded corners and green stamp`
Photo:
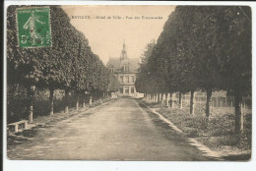
<path id="1" fill-rule="evenodd" d="M 8 160 L 250 161 L 245 5 L 6 7 Z"/>

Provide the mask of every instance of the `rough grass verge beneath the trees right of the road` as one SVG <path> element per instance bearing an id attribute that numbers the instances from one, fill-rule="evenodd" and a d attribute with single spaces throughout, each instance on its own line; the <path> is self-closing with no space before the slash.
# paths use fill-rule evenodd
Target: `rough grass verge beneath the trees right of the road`
<path id="1" fill-rule="evenodd" d="M 187 137 L 202 142 L 224 158 L 230 160 L 249 160 L 251 156 L 252 114 L 244 116 L 244 133 L 234 133 L 234 114 L 222 110 L 209 117 L 204 111 L 196 109 L 194 115 L 189 114 L 189 107 L 165 108 L 162 104 L 148 99 L 142 101 L 182 130 Z"/>

